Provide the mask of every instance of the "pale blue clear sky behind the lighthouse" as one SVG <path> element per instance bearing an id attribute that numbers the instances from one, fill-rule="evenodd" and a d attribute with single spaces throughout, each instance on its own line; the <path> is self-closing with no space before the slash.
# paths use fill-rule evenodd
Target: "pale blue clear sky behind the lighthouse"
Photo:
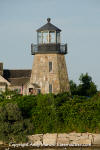
<path id="1" fill-rule="evenodd" d="M 100 0 L 0 0 L 0 62 L 4 68 L 32 68 L 30 45 L 47 17 L 68 44 L 69 79 L 92 76 L 100 89 Z"/>

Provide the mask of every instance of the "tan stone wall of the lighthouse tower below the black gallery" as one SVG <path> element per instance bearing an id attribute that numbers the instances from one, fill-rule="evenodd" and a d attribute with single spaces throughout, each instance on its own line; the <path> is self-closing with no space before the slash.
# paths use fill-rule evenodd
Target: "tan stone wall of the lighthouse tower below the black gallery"
<path id="1" fill-rule="evenodd" d="M 50 72 L 49 62 L 52 62 L 52 71 Z M 36 54 L 30 82 L 37 84 L 43 94 L 49 93 L 49 84 L 52 84 L 52 92 L 55 94 L 69 91 L 65 56 L 62 54 Z"/>

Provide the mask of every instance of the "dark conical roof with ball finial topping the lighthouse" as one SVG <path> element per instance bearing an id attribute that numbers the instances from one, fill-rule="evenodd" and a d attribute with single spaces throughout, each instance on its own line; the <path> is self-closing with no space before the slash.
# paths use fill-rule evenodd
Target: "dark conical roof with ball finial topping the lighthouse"
<path id="1" fill-rule="evenodd" d="M 40 32 L 40 31 L 45 31 L 45 30 L 48 30 L 48 31 L 61 31 L 58 27 L 54 26 L 53 24 L 50 23 L 50 18 L 47 19 L 48 23 L 45 24 L 44 26 L 42 26 L 41 28 L 39 28 L 37 30 L 37 32 Z"/>

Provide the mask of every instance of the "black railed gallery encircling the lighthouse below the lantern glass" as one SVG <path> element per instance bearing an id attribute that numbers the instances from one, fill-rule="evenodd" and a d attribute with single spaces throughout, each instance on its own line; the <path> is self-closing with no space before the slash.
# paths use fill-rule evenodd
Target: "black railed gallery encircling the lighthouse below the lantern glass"
<path id="1" fill-rule="evenodd" d="M 67 54 L 67 44 L 31 44 L 31 54 Z"/>

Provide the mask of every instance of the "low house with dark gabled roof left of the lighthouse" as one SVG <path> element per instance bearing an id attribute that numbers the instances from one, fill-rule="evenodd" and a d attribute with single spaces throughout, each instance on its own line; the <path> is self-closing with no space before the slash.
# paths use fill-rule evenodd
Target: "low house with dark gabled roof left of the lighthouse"
<path id="1" fill-rule="evenodd" d="M 31 70 L 9 70 L 3 69 L 3 63 L 0 63 L 0 91 L 17 90 L 20 94 L 28 94 L 24 87 L 30 81 Z"/>

